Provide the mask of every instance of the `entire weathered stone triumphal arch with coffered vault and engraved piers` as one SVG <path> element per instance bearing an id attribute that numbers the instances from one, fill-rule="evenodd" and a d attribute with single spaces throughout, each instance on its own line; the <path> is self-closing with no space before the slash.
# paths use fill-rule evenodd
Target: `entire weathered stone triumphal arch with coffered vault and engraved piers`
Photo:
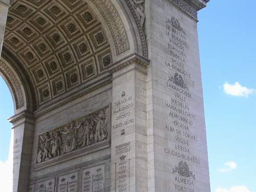
<path id="1" fill-rule="evenodd" d="M 0 0 L 13 191 L 209 192 L 207 2 Z"/>

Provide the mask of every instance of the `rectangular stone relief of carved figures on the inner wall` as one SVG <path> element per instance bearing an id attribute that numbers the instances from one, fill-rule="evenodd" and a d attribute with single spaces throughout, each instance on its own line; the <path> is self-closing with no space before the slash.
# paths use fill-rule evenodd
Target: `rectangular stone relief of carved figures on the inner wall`
<path id="1" fill-rule="evenodd" d="M 37 163 L 110 138 L 109 107 L 39 135 Z"/>

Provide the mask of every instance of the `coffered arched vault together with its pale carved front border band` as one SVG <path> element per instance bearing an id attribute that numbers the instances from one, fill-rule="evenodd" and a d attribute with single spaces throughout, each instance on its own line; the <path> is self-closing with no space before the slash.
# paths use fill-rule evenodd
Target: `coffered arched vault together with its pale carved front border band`
<path id="1" fill-rule="evenodd" d="M 29 84 L 30 111 L 111 82 L 110 69 L 127 55 L 147 56 L 144 3 L 13 0 L 10 4 L 2 56 L 24 78 L 20 82 Z M 20 100 L 14 99 L 20 108 Z"/>

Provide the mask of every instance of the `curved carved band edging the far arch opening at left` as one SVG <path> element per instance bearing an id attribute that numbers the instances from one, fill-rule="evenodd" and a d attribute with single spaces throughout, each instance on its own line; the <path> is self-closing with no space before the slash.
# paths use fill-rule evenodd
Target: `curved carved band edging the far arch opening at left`
<path id="1" fill-rule="evenodd" d="M 20 86 L 17 78 L 15 77 L 11 69 L 2 60 L 0 60 L 0 72 L 5 76 L 12 89 L 12 93 L 15 98 L 16 109 L 21 108 L 22 106 L 24 106 L 22 87 Z"/>

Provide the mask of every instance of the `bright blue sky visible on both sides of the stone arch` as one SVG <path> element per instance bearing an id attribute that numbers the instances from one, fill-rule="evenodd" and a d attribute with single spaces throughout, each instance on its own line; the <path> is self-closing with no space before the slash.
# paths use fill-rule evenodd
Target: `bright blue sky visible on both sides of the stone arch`
<path id="1" fill-rule="evenodd" d="M 211 0 L 199 40 L 212 192 L 256 192 L 256 3 Z M 8 159 L 13 115 L 0 77 L 0 161 Z M 1 162 L 0 162 L 1 166 Z"/>

